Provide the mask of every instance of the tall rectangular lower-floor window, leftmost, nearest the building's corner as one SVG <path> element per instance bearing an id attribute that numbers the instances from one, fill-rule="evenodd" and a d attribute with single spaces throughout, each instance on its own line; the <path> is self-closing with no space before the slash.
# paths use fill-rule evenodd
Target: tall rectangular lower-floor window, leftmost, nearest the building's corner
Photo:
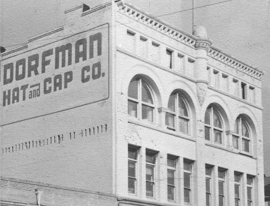
<path id="1" fill-rule="evenodd" d="M 128 146 L 128 192 L 136 194 L 137 185 L 137 151 L 138 147 Z"/>

